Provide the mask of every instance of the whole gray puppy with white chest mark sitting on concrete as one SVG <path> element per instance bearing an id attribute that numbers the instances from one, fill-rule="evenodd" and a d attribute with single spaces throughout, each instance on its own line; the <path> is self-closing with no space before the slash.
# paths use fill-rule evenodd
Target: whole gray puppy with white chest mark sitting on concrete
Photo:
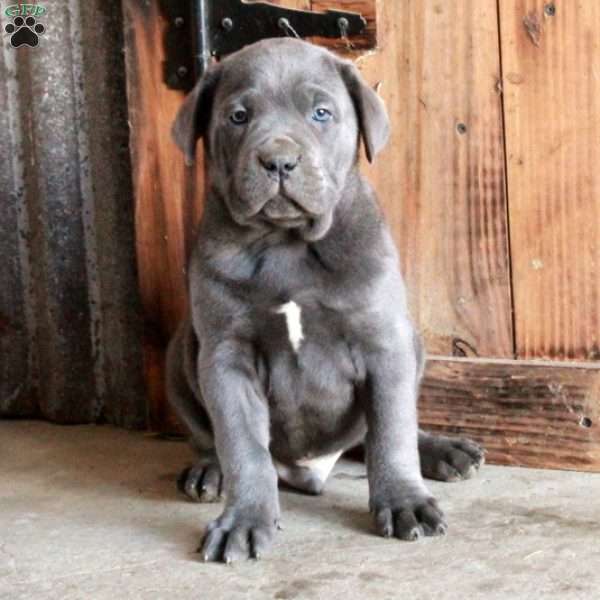
<path id="1" fill-rule="evenodd" d="M 198 462 L 197 501 L 225 496 L 204 560 L 258 558 L 279 520 L 278 476 L 319 493 L 365 443 L 383 536 L 446 531 L 422 474 L 471 476 L 483 452 L 418 431 L 423 351 L 398 257 L 358 144 L 373 160 L 389 123 L 358 70 L 305 42 L 271 39 L 211 67 L 173 127 L 210 185 L 189 265 L 191 318 L 168 351 L 168 395 Z"/>

